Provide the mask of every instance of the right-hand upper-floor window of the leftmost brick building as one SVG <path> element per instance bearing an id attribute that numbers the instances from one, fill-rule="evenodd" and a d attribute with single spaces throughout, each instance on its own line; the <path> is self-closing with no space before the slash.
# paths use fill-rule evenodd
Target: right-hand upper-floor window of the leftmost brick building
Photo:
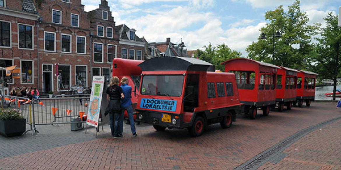
<path id="1" fill-rule="evenodd" d="M 33 27 L 19 24 L 19 48 L 32 49 Z"/>

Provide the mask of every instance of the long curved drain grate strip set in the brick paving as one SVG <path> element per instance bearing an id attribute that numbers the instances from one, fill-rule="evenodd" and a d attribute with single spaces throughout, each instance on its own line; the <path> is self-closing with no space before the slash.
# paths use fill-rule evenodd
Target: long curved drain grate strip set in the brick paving
<path id="1" fill-rule="evenodd" d="M 271 148 L 263 151 L 262 153 L 256 155 L 255 157 L 251 158 L 247 162 L 241 164 L 235 170 L 250 170 L 250 169 L 257 169 L 260 166 L 262 166 L 264 163 L 267 162 L 269 159 L 276 158 L 275 156 L 280 156 L 278 153 L 282 152 L 284 149 L 292 145 L 294 142 L 296 142 L 298 139 L 302 138 L 303 136 L 309 134 L 310 132 L 316 130 L 317 128 L 320 128 L 322 126 L 325 126 L 327 124 L 330 124 L 332 122 L 335 122 L 337 120 L 341 119 L 341 117 L 336 117 L 330 120 L 327 120 L 322 123 L 315 124 L 313 126 L 310 126 L 306 129 L 302 129 L 295 134 L 283 139 L 282 141 L 278 142 L 276 145 L 272 146 Z"/>

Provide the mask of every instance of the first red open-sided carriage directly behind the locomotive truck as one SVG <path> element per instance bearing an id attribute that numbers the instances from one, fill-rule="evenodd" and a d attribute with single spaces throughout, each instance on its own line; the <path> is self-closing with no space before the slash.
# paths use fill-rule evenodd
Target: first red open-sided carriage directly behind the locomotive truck
<path id="1" fill-rule="evenodd" d="M 257 108 L 267 116 L 270 106 L 276 104 L 276 74 L 278 66 L 250 60 L 234 58 L 221 63 L 225 72 L 236 74 L 240 102 L 245 104 L 244 113 L 255 119 Z"/>

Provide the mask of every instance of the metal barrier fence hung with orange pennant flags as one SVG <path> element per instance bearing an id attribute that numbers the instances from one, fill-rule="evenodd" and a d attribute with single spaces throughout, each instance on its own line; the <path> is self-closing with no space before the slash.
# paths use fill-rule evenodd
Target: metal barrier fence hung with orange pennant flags
<path id="1" fill-rule="evenodd" d="M 33 101 L 28 98 L 4 95 L 1 103 L 4 108 L 18 109 L 31 127 L 28 131 L 32 131 L 34 135 L 38 132 L 35 125 L 85 123 L 85 121 L 72 121 L 72 118 L 82 118 L 82 115 L 88 114 L 89 100 L 90 94 L 60 95 L 55 98 L 40 98 Z"/>

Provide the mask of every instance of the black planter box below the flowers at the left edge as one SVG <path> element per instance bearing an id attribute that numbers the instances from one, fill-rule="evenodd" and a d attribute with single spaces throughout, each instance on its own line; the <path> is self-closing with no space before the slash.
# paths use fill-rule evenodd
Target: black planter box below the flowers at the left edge
<path id="1" fill-rule="evenodd" d="M 6 137 L 20 136 L 26 131 L 26 119 L 0 120 L 0 134 Z"/>

